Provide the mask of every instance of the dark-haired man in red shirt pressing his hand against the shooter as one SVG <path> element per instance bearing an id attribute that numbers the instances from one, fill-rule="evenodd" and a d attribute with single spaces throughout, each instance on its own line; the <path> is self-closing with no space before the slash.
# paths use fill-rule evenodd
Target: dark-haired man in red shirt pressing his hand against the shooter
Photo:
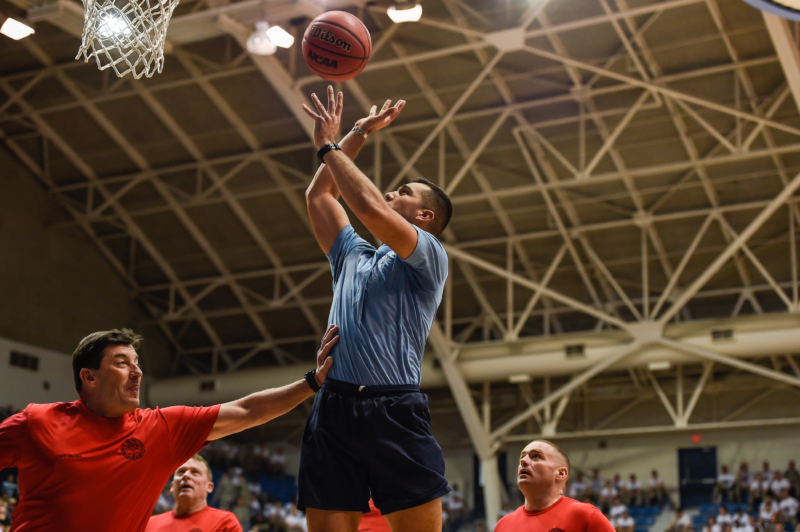
<path id="1" fill-rule="evenodd" d="M 266 423 L 319 389 L 336 330 L 304 380 L 222 405 L 154 410 L 138 408 L 141 337 L 90 334 L 72 355 L 80 398 L 30 404 L 0 424 L 0 469 L 19 469 L 11 532 L 141 532 L 172 473 L 208 441 Z"/>

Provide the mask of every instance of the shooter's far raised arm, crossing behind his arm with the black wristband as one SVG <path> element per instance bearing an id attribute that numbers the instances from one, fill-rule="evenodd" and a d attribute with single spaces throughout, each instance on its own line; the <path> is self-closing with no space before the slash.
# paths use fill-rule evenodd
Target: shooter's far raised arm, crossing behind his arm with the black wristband
<path id="1" fill-rule="evenodd" d="M 329 88 L 331 93 L 333 88 Z M 336 105 L 341 109 L 342 94 L 339 93 Z M 402 106 L 390 107 L 391 100 L 383 104 L 381 112 L 377 112 L 377 107 L 372 106 L 369 115 L 356 122 L 368 135 L 386 127 L 400 113 Z M 341 115 L 341 113 L 340 113 Z M 356 131 L 350 131 L 339 142 L 342 153 L 351 161 L 355 160 L 358 152 L 364 146 L 365 138 Z M 331 141 L 333 142 L 333 141 Z M 331 170 L 326 164 L 320 165 L 314 179 L 306 190 L 306 205 L 308 215 L 311 218 L 311 227 L 314 236 L 317 238 L 322 251 L 327 255 L 333 246 L 336 236 L 341 230 L 350 223 L 347 213 L 339 199 L 339 188 L 331 175 Z"/>

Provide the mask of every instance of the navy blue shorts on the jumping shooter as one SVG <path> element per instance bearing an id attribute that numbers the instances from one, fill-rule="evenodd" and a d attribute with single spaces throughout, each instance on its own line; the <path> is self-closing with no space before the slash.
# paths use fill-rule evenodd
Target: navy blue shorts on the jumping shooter
<path id="1" fill-rule="evenodd" d="M 327 379 L 303 431 L 297 507 L 367 513 L 371 496 L 385 515 L 446 494 L 430 423 L 419 388 Z"/>

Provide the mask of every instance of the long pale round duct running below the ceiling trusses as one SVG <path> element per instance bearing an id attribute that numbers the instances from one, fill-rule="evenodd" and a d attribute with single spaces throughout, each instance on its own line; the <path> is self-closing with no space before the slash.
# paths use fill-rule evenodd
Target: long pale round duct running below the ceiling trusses
<path id="1" fill-rule="evenodd" d="M 712 331 L 733 330 L 732 339 L 713 341 Z M 690 345 L 713 349 L 738 358 L 796 352 L 800 346 L 800 316 L 776 314 L 723 320 L 693 321 L 668 326 L 664 336 Z M 611 356 L 631 342 L 620 331 L 559 335 L 516 342 L 486 342 L 462 347 L 456 366 L 468 383 L 507 381 L 512 375 L 532 378 L 564 376 L 581 372 Z M 566 347 L 584 346 L 582 356 L 567 357 Z M 426 353 L 422 363 L 422 388 L 447 386 L 444 374 L 434 367 L 435 356 Z M 651 345 L 626 357 L 610 370 L 647 366 L 651 362 L 686 364 L 698 359 L 660 345 Z M 152 382 L 147 389 L 152 406 L 216 404 L 232 401 L 266 388 L 286 385 L 311 369 L 302 364 L 243 370 L 216 375 L 191 375 Z M 202 382 L 213 381 L 213 391 L 200 391 Z"/>

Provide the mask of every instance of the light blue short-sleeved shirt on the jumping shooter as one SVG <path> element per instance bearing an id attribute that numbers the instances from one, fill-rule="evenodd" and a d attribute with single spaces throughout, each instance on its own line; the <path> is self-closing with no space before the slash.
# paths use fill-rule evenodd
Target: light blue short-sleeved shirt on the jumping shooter
<path id="1" fill-rule="evenodd" d="M 332 379 L 364 386 L 419 386 L 422 354 L 447 279 L 447 254 L 427 231 L 407 259 L 378 249 L 351 225 L 333 242 L 333 304 L 328 323 L 339 326 Z"/>

